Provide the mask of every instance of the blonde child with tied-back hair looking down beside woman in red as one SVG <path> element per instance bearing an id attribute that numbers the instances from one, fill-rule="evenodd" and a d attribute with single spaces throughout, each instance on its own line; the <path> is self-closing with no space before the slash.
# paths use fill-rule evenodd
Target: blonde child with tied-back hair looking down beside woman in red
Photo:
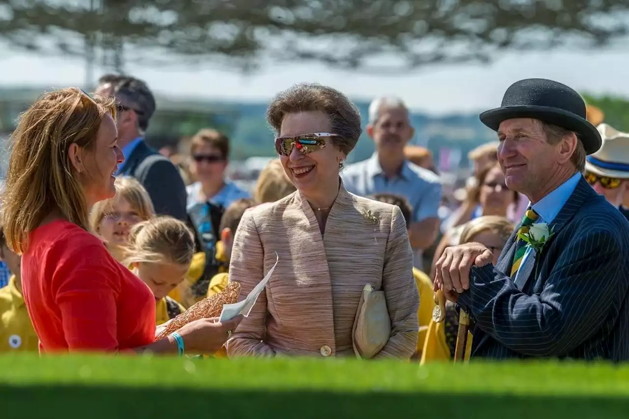
<path id="1" fill-rule="evenodd" d="M 124 263 L 155 295 L 155 322 L 159 326 L 186 309 L 168 293 L 186 277 L 194 236 L 186 223 L 170 216 L 142 221 L 131 228 Z"/>

